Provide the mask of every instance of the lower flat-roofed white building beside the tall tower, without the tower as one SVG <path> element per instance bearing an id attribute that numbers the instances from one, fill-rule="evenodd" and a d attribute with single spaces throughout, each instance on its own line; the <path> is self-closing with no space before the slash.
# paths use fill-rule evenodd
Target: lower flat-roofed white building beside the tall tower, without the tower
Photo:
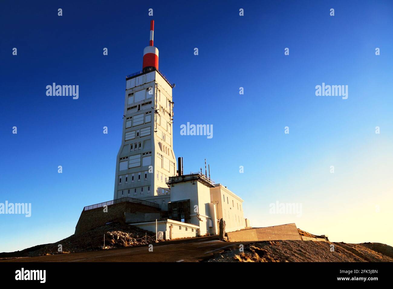
<path id="1" fill-rule="evenodd" d="M 221 218 L 226 223 L 225 232 L 246 228 L 243 200 L 205 175 L 169 177 L 167 184 L 171 187 L 168 218 L 157 221 L 157 230 L 164 233 L 165 239 L 217 235 Z M 156 230 L 155 221 L 132 225 Z"/>

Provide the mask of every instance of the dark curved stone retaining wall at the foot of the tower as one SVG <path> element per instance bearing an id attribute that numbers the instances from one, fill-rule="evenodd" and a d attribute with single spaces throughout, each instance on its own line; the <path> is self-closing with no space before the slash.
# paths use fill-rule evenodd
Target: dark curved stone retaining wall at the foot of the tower
<path id="1" fill-rule="evenodd" d="M 146 214 L 147 213 L 147 214 Z M 104 208 L 96 208 L 82 211 L 79 221 L 75 226 L 75 235 L 92 228 L 105 225 L 112 221 L 127 221 L 125 215 L 132 216 L 133 220 L 147 221 L 146 218 L 154 217 L 154 220 L 165 212 L 150 206 L 136 204 L 132 202 L 121 202 L 108 206 L 108 212 L 104 213 Z M 145 215 L 146 214 L 146 215 Z M 139 217 L 139 219 L 138 219 Z"/>

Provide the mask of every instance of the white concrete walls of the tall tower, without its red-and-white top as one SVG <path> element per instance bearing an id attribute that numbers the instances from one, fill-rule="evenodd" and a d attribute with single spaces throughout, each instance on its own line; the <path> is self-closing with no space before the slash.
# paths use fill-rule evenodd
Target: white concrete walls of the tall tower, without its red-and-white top
<path id="1" fill-rule="evenodd" d="M 136 81 L 136 79 L 140 79 L 140 81 Z M 150 87 L 152 87 L 154 92 L 152 95 L 146 91 Z M 143 99 L 135 99 L 135 95 L 138 94 L 139 96 L 141 91 L 143 91 Z M 132 101 L 129 101 L 130 93 L 134 93 L 134 97 L 130 97 Z M 149 101 L 152 102 L 150 105 L 142 106 L 143 103 Z M 164 202 L 151 198 L 151 196 L 169 195 L 170 190 L 167 184 L 165 184 L 165 178 L 176 174 L 176 157 L 173 152 L 173 125 L 169 116 L 173 112 L 173 105 L 169 101 L 172 101 L 172 87 L 158 72 L 149 72 L 126 81 L 123 112 L 126 117 L 123 118 L 121 145 L 116 160 L 114 199 L 121 197 L 153 199 L 157 201 L 162 210 L 167 210 L 169 196 Z M 134 106 L 137 108 L 140 106 L 141 110 L 128 110 Z M 158 114 L 154 113 L 154 107 L 156 107 Z M 143 121 L 141 124 L 134 125 L 134 119 L 136 119 L 134 117 L 140 114 L 145 115 Z M 150 121 L 148 121 L 147 116 L 150 116 Z M 130 117 L 132 118 L 130 119 Z M 127 127 L 127 122 L 132 123 L 132 126 Z M 146 129 L 147 127 L 150 127 L 150 134 L 143 135 L 141 129 Z M 157 131 L 156 133 L 154 133 L 155 130 Z M 137 135 L 138 131 L 139 136 Z M 125 133 L 130 132 L 135 132 L 134 138 L 125 140 Z M 165 140 L 163 140 L 163 134 L 165 134 Z M 139 143 L 141 143 L 141 147 L 139 147 Z M 135 149 L 135 144 L 137 144 L 138 149 Z M 131 145 L 133 147 L 132 150 Z M 143 153 L 149 152 L 151 152 L 151 164 L 143 166 Z M 169 170 L 165 168 L 163 161 L 158 160 L 158 154 L 163 156 L 162 159 L 165 157 L 169 160 Z M 141 155 L 139 166 L 130 168 L 126 166 L 126 168 L 123 169 L 121 167 L 121 170 L 119 170 L 120 159 L 123 161 L 128 160 L 135 155 Z M 145 157 L 148 158 L 149 155 L 145 155 Z M 151 173 L 149 173 L 150 165 L 153 166 Z M 146 179 L 144 177 L 145 171 L 148 172 Z M 141 173 L 141 179 L 138 179 L 138 173 Z M 134 181 L 131 180 L 132 174 L 134 174 Z M 121 183 L 119 182 L 120 176 L 122 179 Z M 127 182 L 125 182 L 126 176 L 128 177 Z M 136 192 L 134 192 L 135 189 Z"/>

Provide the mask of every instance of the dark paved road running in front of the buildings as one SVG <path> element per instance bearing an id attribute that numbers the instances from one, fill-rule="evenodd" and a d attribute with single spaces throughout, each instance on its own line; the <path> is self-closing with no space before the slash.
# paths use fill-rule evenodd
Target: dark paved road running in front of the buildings
<path id="1" fill-rule="evenodd" d="M 241 242 L 246 244 L 248 242 Z M 0 262 L 196 262 L 214 254 L 238 247 L 239 242 L 224 242 L 218 236 L 197 237 L 148 246 L 101 250 L 51 256 L 13 258 Z"/>

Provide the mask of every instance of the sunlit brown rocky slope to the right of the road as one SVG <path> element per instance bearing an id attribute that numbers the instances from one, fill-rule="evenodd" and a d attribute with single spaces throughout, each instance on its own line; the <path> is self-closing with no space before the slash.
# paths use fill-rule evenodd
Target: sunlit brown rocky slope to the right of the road
<path id="1" fill-rule="evenodd" d="M 307 233 L 307 232 L 305 232 Z M 309 233 L 307 233 L 309 234 Z M 310 234 L 311 235 L 311 234 Z M 306 235 L 303 235 L 306 236 Z M 332 247 L 331 245 L 334 245 Z M 334 248 L 331 251 L 331 248 Z M 208 262 L 392 262 L 393 247 L 381 243 L 262 241 L 230 250 Z"/>

